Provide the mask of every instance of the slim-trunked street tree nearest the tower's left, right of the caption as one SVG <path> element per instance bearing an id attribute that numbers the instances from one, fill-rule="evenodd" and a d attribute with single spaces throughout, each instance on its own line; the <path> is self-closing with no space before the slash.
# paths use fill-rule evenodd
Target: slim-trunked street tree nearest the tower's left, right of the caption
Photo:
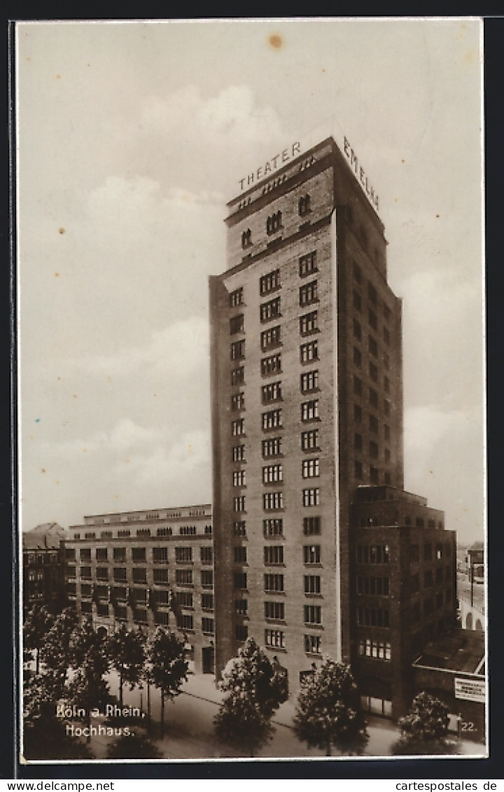
<path id="1" fill-rule="evenodd" d="M 180 694 L 183 680 L 187 680 L 188 661 L 184 641 L 175 633 L 158 627 L 149 647 L 152 683 L 161 691 L 161 738 L 165 736 L 165 699 Z"/>

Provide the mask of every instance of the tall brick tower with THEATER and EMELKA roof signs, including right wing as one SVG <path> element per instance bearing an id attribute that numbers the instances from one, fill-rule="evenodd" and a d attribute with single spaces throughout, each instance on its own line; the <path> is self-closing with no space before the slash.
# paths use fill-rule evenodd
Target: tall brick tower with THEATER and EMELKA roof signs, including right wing
<path id="1" fill-rule="evenodd" d="M 332 138 L 241 187 L 210 278 L 216 670 L 253 635 L 294 689 L 328 653 L 399 714 L 411 661 L 455 619 L 455 549 L 442 513 L 403 491 L 401 302 L 378 198 Z"/>

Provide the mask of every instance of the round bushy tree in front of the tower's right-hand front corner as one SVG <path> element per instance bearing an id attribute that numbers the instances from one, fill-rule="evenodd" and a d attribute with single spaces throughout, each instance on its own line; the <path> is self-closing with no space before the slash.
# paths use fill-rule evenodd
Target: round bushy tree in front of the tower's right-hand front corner
<path id="1" fill-rule="evenodd" d="M 332 746 L 343 753 L 362 753 L 369 735 L 350 666 L 325 657 L 305 676 L 297 698 L 294 732 L 312 748 Z"/>

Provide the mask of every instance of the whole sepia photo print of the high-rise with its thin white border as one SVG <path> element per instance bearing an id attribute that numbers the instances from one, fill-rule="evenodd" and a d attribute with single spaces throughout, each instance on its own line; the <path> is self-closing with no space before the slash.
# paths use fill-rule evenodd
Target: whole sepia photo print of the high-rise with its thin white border
<path id="1" fill-rule="evenodd" d="M 13 51 L 18 760 L 489 756 L 482 20 Z"/>

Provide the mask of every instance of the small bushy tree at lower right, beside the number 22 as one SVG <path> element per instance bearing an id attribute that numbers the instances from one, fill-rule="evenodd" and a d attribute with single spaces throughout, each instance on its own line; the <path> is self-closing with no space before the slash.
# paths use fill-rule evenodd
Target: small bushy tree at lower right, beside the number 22
<path id="1" fill-rule="evenodd" d="M 443 754 L 453 753 L 446 742 L 449 707 L 428 693 L 415 696 L 409 714 L 400 718 L 400 740 L 392 745 L 392 753 Z"/>

